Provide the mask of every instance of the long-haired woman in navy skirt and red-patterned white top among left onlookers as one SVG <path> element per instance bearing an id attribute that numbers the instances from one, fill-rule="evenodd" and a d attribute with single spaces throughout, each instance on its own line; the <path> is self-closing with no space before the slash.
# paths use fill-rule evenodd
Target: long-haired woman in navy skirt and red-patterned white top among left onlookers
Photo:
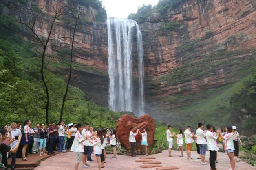
<path id="1" fill-rule="evenodd" d="M 26 148 L 29 145 L 30 142 L 30 127 L 29 125 L 31 124 L 31 121 L 29 119 L 26 119 L 24 124 L 23 124 L 23 135 L 22 135 L 22 140 L 20 142 L 21 145 L 23 145 L 22 148 L 22 161 L 27 161 L 28 158 L 26 158 Z"/>

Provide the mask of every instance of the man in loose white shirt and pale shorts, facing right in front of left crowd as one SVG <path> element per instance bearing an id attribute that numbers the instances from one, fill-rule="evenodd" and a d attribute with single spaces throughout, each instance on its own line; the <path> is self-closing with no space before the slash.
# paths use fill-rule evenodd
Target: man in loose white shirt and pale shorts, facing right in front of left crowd
<path id="1" fill-rule="evenodd" d="M 77 132 L 75 133 L 75 138 L 73 141 L 73 144 L 71 146 L 71 151 L 76 152 L 77 153 L 77 161 L 75 163 L 75 170 L 78 170 L 79 164 L 82 161 L 82 156 L 84 153 L 84 144 L 83 142 L 86 139 L 82 139 L 82 135 L 81 132 L 83 130 L 83 125 L 82 124 L 77 124 Z"/>

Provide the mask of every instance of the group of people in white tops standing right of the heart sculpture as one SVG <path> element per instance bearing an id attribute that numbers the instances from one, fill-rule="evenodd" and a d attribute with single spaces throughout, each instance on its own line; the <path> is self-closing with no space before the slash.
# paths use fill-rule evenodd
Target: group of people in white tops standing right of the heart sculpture
<path id="1" fill-rule="evenodd" d="M 182 129 L 179 129 L 179 134 L 175 134 L 174 132 L 171 133 L 171 126 L 167 126 L 168 130 L 166 131 L 167 141 L 169 143 L 169 157 L 173 157 L 171 155 L 172 145 L 173 145 L 173 138 L 177 137 L 177 144 L 180 148 L 181 155 L 183 157 L 183 132 Z M 201 165 L 207 165 L 208 163 L 205 162 L 205 155 L 206 149 L 208 146 L 208 150 L 210 152 L 209 163 L 211 170 L 216 170 L 216 163 L 217 160 L 217 151 L 219 151 L 219 144 L 223 144 L 223 149 L 225 153 L 230 159 L 230 170 L 235 169 L 235 160 L 239 162 L 238 159 L 239 155 L 239 146 L 238 142 L 242 143 L 239 138 L 239 133 L 236 131 L 236 126 L 227 126 L 222 127 L 221 130 L 215 129 L 214 126 L 208 124 L 206 125 L 206 129 L 203 130 L 204 126 L 203 123 L 198 123 L 198 127 L 196 128 L 196 133 L 192 132 L 192 127 L 188 126 L 188 128 L 184 131 L 185 136 L 185 143 L 186 143 L 186 154 L 189 160 L 194 160 L 191 157 L 191 151 L 193 148 L 194 140 L 196 142 L 197 153 L 199 157 L 197 159 L 201 159 Z"/>

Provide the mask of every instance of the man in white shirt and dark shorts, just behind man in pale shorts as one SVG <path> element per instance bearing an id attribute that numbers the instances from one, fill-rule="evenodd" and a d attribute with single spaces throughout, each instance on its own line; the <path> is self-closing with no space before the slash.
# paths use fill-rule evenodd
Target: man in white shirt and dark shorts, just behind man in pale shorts
<path id="1" fill-rule="evenodd" d="M 82 130 L 82 138 L 86 139 L 83 144 L 84 144 L 84 155 L 83 155 L 83 168 L 87 168 L 89 164 L 87 164 L 87 154 L 90 152 L 90 141 L 88 138 L 90 138 L 89 134 L 89 123 L 84 124 L 84 129 Z"/>

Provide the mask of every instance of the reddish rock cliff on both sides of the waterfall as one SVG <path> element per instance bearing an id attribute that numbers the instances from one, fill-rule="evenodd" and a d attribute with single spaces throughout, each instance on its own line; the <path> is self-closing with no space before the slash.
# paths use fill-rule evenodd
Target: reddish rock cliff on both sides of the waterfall
<path id="1" fill-rule="evenodd" d="M 59 1 L 36 2 L 40 9 L 54 15 L 53 7 Z M 106 22 L 95 24 L 95 9 L 83 9 L 89 22 L 77 31 L 74 57 L 80 65 L 92 67 L 75 68 L 71 84 L 82 88 L 93 102 L 108 105 L 107 25 Z M 160 13 L 154 13 L 147 22 L 140 24 L 146 112 L 159 121 L 172 124 L 194 118 L 200 120 L 199 104 L 205 106 L 205 110 L 200 111 L 204 112 L 212 107 L 205 102 L 214 103 L 216 95 L 231 94 L 236 87 L 234 83 L 255 64 L 256 55 L 251 51 L 256 47 L 256 1 L 186 0 L 165 15 L 167 19 L 162 19 Z M 66 24 L 65 19 L 57 20 L 51 39 L 58 41 L 50 42 L 49 56 L 61 58 L 62 50 L 70 48 L 71 39 L 59 39 L 71 37 Z M 36 24 L 40 36 L 47 36 L 49 25 L 47 19 Z M 31 40 L 27 34 L 24 38 Z M 133 56 L 136 55 L 135 51 Z M 136 57 L 133 60 L 136 67 Z M 65 69 L 53 71 L 66 74 Z M 136 75 L 135 72 L 134 88 L 138 86 Z M 227 116 L 226 105 L 221 107 L 214 110 L 215 118 Z M 221 123 L 226 120 L 223 117 Z"/>

